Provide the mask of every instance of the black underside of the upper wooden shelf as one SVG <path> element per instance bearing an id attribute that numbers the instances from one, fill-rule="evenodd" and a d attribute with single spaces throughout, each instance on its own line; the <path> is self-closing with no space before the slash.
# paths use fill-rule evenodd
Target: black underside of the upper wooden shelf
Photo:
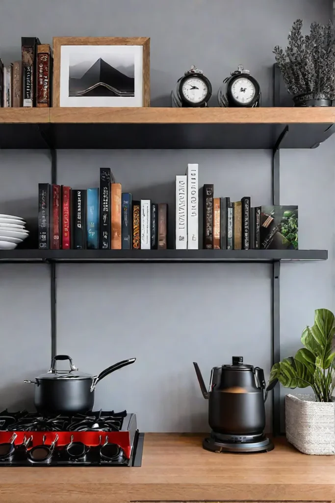
<path id="1" fill-rule="evenodd" d="M 332 124 L 1 124 L 0 148 L 30 149 L 273 149 L 313 148 Z"/>

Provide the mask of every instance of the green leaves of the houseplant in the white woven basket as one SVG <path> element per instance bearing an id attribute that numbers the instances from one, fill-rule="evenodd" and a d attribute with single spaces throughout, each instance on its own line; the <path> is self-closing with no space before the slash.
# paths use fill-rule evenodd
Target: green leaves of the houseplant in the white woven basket
<path id="1" fill-rule="evenodd" d="M 333 337 L 335 317 L 328 309 L 316 309 L 314 325 L 306 326 L 301 342 L 304 348 L 294 358 L 284 358 L 276 363 L 270 373 L 269 387 L 277 380 L 285 388 L 307 388 L 314 391 L 316 401 L 331 402 L 335 387 Z"/>

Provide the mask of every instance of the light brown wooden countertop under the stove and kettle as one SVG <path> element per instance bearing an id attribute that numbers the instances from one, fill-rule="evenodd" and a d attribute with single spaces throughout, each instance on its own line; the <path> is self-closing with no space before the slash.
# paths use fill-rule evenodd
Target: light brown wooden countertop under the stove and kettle
<path id="1" fill-rule="evenodd" d="M 0 467 L 0 502 L 335 500 L 333 456 L 306 456 L 285 439 L 266 454 L 216 454 L 201 440 L 146 434 L 141 468 Z"/>

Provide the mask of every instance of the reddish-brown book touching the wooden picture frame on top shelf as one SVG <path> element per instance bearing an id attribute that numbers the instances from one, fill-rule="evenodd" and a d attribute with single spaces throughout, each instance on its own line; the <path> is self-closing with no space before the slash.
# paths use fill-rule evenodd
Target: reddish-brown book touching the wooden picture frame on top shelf
<path id="1" fill-rule="evenodd" d="M 48 44 L 37 46 L 37 106 L 50 107 L 51 103 L 51 47 Z"/>

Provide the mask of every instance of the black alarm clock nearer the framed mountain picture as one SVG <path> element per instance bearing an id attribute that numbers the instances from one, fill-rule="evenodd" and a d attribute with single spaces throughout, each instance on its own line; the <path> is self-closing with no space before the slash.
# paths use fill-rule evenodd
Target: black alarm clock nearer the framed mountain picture
<path id="1" fill-rule="evenodd" d="M 212 95 L 212 87 L 203 72 L 191 66 L 179 78 L 171 93 L 173 107 L 206 107 Z"/>

